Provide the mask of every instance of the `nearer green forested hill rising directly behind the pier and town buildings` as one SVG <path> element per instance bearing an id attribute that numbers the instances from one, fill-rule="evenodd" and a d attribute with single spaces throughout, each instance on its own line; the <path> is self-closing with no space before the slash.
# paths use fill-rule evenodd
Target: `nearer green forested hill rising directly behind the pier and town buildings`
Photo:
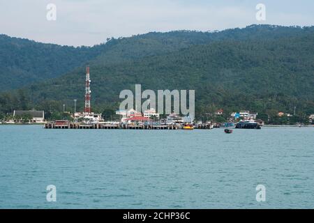
<path id="1" fill-rule="evenodd" d="M 117 65 L 91 67 L 93 105 L 117 105 L 119 92 L 195 89 L 197 112 L 223 107 L 314 113 L 314 33 L 271 40 L 221 40 Z M 40 103 L 84 96 L 84 68 L 26 89 Z M 38 104 L 39 103 L 39 104 Z M 61 104 L 61 103 L 60 103 Z"/>

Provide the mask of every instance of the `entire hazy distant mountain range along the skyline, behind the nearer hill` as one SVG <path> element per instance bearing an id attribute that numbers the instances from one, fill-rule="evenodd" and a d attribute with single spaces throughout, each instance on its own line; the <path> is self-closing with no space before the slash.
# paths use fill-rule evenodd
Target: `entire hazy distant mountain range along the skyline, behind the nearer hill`
<path id="1" fill-rule="evenodd" d="M 109 66 L 219 40 L 276 39 L 300 36 L 304 33 L 311 33 L 313 30 L 313 27 L 302 29 L 301 27 L 252 25 L 245 29 L 227 29 L 220 32 L 152 32 L 130 38 L 111 38 L 106 44 L 94 47 L 43 44 L 0 35 L 0 78 L 2 80 L 0 91 L 18 89 L 33 82 L 59 77 L 75 68 L 82 68 L 87 63 L 91 63 L 91 66 Z"/>

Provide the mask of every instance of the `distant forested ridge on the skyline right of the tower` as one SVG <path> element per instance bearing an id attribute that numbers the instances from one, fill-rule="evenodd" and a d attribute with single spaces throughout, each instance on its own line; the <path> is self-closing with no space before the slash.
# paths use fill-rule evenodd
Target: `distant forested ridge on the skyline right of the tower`
<path id="1" fill-rule="evenodd" d="M 214 32 L 151 32 L 130 38 L 111 39 L 106 44 L 106 50 L 98 56 L 98 59 L 94 60 L 94 65 L 134 61 L 145 56 L 167 54 L 193 45 L 206 45 L 220 40 L 268 40 L 297 37 L 306 33 L 313 33 L 313 31 L 314 26 L 301 28 L 298 26 L 251 25 L 244 29 L 226 29 L 225 31 Z"/>

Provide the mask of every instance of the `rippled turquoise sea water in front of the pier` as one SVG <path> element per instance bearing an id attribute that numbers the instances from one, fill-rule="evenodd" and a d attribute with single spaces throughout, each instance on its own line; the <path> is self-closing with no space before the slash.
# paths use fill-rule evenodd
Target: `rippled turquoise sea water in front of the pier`
<path id="1" fill-rule="evenodd" d="M 314 208 L 314 128 L 0 125 L 0 139 L 0 208 Z"/>

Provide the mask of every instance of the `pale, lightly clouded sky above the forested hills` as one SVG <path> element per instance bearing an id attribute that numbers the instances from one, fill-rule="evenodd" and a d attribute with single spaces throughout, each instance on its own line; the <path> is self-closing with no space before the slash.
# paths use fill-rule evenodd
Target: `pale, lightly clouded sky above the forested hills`
<path id="1" fill-rule="evenodd" d="M 56 6 L 56 20 L 47 20 Z M 266 20 L 256 19 L 258 3 Z M 313 0 L 0 0 L 0 33 L 59 45 L 96 45 L 150 31 L 216 31 L 250 24 L 314 25 Z M 50 17 L 51 18 L 51 17 Z"/>

